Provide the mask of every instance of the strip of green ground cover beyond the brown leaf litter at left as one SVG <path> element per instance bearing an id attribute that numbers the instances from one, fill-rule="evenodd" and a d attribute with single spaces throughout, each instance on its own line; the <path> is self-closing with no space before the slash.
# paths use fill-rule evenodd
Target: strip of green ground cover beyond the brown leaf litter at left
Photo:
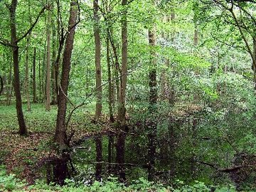
<path id="1" fill-rule="evenodd" d="M 80 107 L 73 113 L 70 121 L 70 127 L 78 129 L 93 128 L 88 126 L 90 119 L 93 118 L 95 103 L 92 102 L 85 107 Z M 68 106 L 67 116 L 72 109 Z M 23 114 L 26 126 L 29 132 L 54 132 L 57 117 L 57 106 L 51 106 L 50 112 L 47 112 L 45 105 L 32 104 L 31 111 L 27 111 L 27 106 L 23 105 Z M 91 131 L 92 129 L 90 129 Z M 0 105 L 0 131 L 18 131 L 18 120 L 16 117 L 15 105 Z"/>

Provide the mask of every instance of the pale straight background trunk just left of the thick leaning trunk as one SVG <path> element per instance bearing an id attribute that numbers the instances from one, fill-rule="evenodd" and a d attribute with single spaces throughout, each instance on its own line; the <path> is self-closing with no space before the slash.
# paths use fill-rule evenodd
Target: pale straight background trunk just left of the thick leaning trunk
<path id="1" fill-rule="evenodd" d="M 46 111 L 50 111 L 50 28 L 51 11 L 48 10 L 47 17 L 47 64 L 46 64 Z"/>

